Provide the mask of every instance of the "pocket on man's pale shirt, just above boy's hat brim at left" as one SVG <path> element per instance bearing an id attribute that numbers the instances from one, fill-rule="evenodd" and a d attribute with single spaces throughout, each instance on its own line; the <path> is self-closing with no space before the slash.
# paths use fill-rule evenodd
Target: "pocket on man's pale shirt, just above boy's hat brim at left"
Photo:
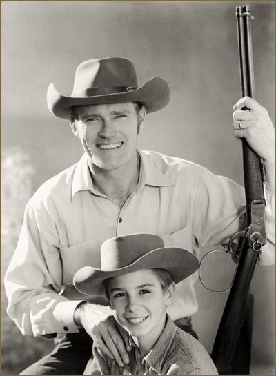
<path id="1" fill-rule="evenodd" d="M 72 283 L 75 273 L 83 266 L 101 267 L 101 243 L 97 239 L 90 239 L 72 247 L 60 248 L 63 284 Z"/>

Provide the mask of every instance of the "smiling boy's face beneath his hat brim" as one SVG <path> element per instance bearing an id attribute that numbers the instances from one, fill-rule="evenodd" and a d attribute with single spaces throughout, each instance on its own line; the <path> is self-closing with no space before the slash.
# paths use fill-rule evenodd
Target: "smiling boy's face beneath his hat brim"
<path id="1" fill-rule="evenodd" d="M 156 340 L 164 328 L 166 306 L 173 286 L 166 292 L 151 270 L 120 275 L 110 279 L 110 307 L 116 321 L 134 337 L 146 335 Z"/>

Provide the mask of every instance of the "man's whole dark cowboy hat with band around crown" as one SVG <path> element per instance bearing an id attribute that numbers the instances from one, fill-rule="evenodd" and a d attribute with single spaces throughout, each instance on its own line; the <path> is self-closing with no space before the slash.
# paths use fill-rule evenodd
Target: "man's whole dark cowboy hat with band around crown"
<path id="1" fill-rule="evenodd" d="M 47 92 L 50 112 L 70 119 L 72 106 L 139 102 L 146 112 L 165 107 L 170 101 L 170 88 L 161 77 L 153 77 L 138 88 L 135 66 L 124 57 L 107 57 L 83 61 L 76 70 L 70 97 L 59 94 L 53 83 Z"/>

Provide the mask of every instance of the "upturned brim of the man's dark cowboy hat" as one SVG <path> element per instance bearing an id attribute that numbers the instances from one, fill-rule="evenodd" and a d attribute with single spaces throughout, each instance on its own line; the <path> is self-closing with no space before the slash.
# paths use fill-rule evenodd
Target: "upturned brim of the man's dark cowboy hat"
<path id="1" fill-rule="evenodd" d="M 144 86 L 135 90 L 92 97 L 66 97 L 59 94 L 53 83 L 50 83 L 47 91 L 50 112 L 66 120 L 70 119 L 72 106 L 139 102 L 145 106 L 146 112 L 154 112 L 164 108 L 169 101 L 170 88 L 161 77 L 153 77 Z"/>

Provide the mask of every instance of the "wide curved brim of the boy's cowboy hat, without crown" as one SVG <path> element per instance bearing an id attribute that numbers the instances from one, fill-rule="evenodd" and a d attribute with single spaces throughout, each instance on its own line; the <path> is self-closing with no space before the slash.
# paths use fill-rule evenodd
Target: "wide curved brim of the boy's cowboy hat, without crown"
<path id="1" fill-rule="evenodd" d="M 79 269 L 73 278 L 73 284 L 80 293 L 86 295 L 104 295 L 103 281 L 132 273 L 137 270 L 159 268 L 168 270 L 175 283 L 193 274 L 199 267 L 199 261 L 193 253 L 183 248 L 158 248 L 141 256 L 132 264 L 116 270 L 101 270 L 92 266 Z"/>

